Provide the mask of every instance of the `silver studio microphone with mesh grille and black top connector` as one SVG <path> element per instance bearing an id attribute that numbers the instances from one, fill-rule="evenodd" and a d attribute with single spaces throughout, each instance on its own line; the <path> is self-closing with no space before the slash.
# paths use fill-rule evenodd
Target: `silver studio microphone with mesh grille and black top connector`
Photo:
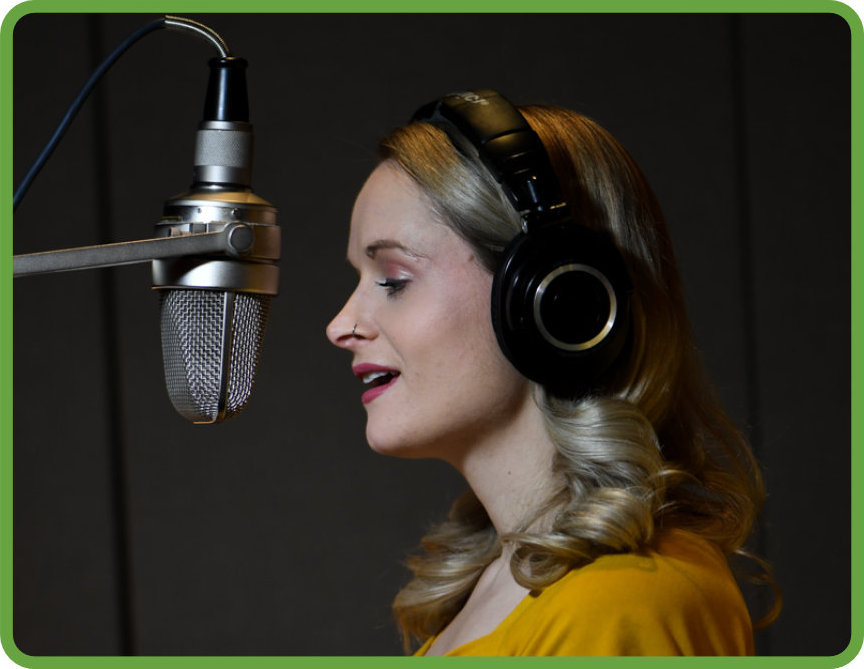
<path id="1" fill-rule="evenodd" d="M 174 408 L 218 423 L 249 401 L 271 297 L 278 291 L 276 209 L 252 192 L 246 61 L 210 61 L 191 188 L 165 203 L 157 237 L 225 231 L 229 254 L 153 261 L 165 383 Z"/>

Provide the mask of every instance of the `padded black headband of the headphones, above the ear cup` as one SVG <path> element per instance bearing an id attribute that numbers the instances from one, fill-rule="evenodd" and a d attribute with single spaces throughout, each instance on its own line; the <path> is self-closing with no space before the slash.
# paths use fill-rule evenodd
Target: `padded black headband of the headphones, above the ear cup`
<path id="1" fill-rule="evenodd" d="M 460 150 L 464 150 L 460 139 L 467 139 L 504 187 L 526 230 L 569 218 L 540 137 L 497 91 L 452 93 L 424 105 L 411 120 L 438 126 Z"/>

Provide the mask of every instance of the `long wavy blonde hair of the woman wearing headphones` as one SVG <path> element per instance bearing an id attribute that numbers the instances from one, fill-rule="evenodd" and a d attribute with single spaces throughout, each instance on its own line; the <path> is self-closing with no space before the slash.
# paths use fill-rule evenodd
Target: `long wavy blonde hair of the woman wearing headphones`
<path id="1" fill-rule="evenodd" d="M 521 111 L 580 222 L 608 233 L 624 256 L 634 286 L 632 337 L 591 396 L 571 400 L 536 389 L 559 483 L 519 531 L 497 536 L 468 491 L 423 538 L 422 553 L 408 563 L 414 578 L 393 603 L 406 650 L 452 620 L 504 542 L 514 547 L 516 580 L 537 590 L 601 555 L 644 548 L 660 527 L 695 532 L 728 556 L 744 553 L 764 500 L 750 446 L 703 370 L 672 242 L 641 170 L 582 115 L 545 106 Z M 380 148 L 494 271 L 520 221 L 476 158 L 425 123 L 394 130 Z M 779 599 L 774 608 L 766 622 Z"/>

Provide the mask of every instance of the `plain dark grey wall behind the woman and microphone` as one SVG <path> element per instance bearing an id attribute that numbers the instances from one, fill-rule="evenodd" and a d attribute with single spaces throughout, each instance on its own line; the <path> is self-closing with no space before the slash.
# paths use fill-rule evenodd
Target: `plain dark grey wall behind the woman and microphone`
<path id="1" fill-rule="evenodd" d="M 16 183 L 95 64 L 153 17 L 14 28 Z M 850 639 L 850 32 L 800 15 L 194 16 L 247 58 L 254 186 L 280 209 L 281 294 L 246 412 L 168 401 L 146 265 L 14 285 L 14 634 L 33 654 L 400 652 L 389 601 L 462 489 L 369 452 L 324 326 L 352 289 L 352 199 L 377 138 L 473 86 L 575 108 L 667 214 L 698 342 L 770 499 L 784 588 L 765 654 Z M 152 234 L 185 190 L 205 43 L 119 61 L 15 217 L 25 253 Z M 9 184 L 6 185 L 9 187 Z M 755 605 L 760 605 L 759 597 Z M 764 602 L 762 602 L 764 603 Z"/>

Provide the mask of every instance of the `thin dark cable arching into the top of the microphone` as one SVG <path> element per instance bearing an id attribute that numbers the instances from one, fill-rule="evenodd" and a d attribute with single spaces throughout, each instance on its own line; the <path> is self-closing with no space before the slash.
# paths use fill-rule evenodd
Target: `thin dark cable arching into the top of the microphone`
<path id="1" fill-rule="evenodd" d="M 78 95 L 75 96 L 75 99 L 72 101 L 72 104 L 69 105 L 69 109 L 66 111 L 66 114 L 63 116 L 63 119 L 57 125 L 56 130 L 54 130 L 54 134 L 51 135 L 51 138 L 43 147 L 42 151 L 40 151 L 39 155 L 36 157 L 36 160 L 33 161 L 33 165 L 27 171 L 27 174 L 21 180 L 21 183 L 18 185 L 18 188 L 15 190 L 15 195 L 12 199 L 12 211 L 14 212 L 18 205 L 21 203 L 21 200 L 24 199 L 24 195 L 29 190 L 33 181 L 36 179 L 36 176 L 39 172 L 42 171 L 42 168 L 45 166 L 45 163 L 48 162 L 48 159 L 51 157 L 51 154 L 54 153 L 54 150 L 57 148 L 57 145 L 60 143 L 60 140 L 66 134 L 66 131 L 69 129 L 69 126 L 72 125 L 72 121 L 75 120 L 75 117 L 78 115 L 78 112 L 81 110 L 81 107 L 84 105 L 84 102 L 89 97 L 93 88 L 95 88 L 96 84 L 102 79 L 105 73 L 111 69 L 111 66 L 117 62 L 117 60 L 122 56 L 126 51 L 138 40 L 146 35 L 149 35 L 156 30 L 161 30 L 163 28 L 177 30 L 177 31 L 185 31 L 191 32 L 202 39 L 213 44 L 217 50 L 219 51 L 219 55 L 222 58 L 227 58 L 231 55 L 231 51 L 228 48 L 228 45 L 225 43 L 219 34 L 213 30 L 212 28 L 205 26 L 203 23 L 198 23 L 197 21 L 193 21 L 191 19 L 182 18 L 179 16 L 170 16 L 166 15 L 161 18 L 156 19 L 155 21 L 151 21 L 145 26 L 142 26 L 135 32 L 133 32 L 129 37 L 127 37 L 123 42 L 121 42 L 117 48 L 112 51 L 102 64 L 90 75 L 90 78 L 78 92 Z"/>

